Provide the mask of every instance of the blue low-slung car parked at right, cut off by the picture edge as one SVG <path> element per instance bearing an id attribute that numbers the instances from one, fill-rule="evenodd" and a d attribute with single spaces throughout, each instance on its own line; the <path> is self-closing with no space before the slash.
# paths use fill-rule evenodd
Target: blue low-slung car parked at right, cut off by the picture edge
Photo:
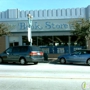
<path id="1" fill-rule="evenodd" d="M 71 54 L 64 54 L 58 57 L 58 61 L 61 64 L 65 63 L 77 63 L 90 65 L 90 50 L 81 49 L 76 50 Z"/>

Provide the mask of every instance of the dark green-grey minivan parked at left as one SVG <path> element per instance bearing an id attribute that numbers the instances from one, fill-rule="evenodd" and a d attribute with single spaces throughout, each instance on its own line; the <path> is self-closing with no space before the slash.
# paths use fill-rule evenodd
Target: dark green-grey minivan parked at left
<path id="1" fill-rule="evenodd" d="M 38 46 L 14 46 L 6 49 L 0 54 L 0 63 L 19 62 L 20 64 L 43 61 L 43 52 Z"/>

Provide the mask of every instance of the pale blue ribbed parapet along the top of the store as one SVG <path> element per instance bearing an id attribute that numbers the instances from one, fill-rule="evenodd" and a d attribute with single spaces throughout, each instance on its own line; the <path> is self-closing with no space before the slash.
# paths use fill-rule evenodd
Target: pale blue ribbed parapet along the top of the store
<path id="1" fill-rule="evenodd" d="M 90 6 L 86 8 L 67 8 L 67 9 L 48 9 L 48 10 L 19 10 L 7 9 L 0 12 L 0 21 L 27 19 L 27 14 L 30 13 L 34 20 L 37 19 L 65 19 L 65 18 L 85 18 Z M 89 15 L 89 14 L 87 14 Z"/>

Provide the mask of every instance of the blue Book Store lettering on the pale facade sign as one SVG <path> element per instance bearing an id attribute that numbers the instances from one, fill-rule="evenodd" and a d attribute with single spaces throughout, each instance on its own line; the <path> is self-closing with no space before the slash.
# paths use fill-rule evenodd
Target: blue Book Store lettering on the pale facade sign
<path id="1" fill-rule="evenodd" d="M 25 30 L 27 29 L 28 24 L 27 23 L 18 23 L 18 28 L 19 30 Z M 68 24 L 56 24 L 56 23 L 52 23 L 52 22 L 45 22 L 43 26 L 41 26 L 40 24 L 38 24 L 38 22 L 34 22 L 32 25 L 32 30 L 43 30 L 43 29 L 67 29 L 69 28 Z"/>

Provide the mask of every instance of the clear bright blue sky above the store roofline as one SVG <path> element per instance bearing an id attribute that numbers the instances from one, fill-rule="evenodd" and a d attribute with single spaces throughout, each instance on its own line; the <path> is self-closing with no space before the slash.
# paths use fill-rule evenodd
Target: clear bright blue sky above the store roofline
<path id="1" fill-rule="evenodd" d="M 81 8 L 88 5 L 90 0 L 0 0 L 0 11 Z"/>

